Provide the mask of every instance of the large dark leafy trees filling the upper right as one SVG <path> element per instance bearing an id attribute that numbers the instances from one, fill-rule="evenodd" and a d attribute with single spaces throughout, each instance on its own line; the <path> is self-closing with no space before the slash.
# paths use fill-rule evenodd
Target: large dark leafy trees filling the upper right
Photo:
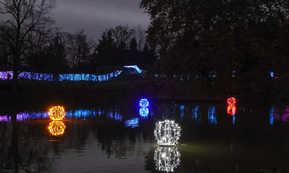
<path id="1" fill-rule="evenodd" d="M 140 7 L 151 16 L 148 42 L 160 46 L 149 74 L 201 76 L 148 78 L 144 89 L 163 98 L 289 98 L 289 1 L 142 0 Z"/>

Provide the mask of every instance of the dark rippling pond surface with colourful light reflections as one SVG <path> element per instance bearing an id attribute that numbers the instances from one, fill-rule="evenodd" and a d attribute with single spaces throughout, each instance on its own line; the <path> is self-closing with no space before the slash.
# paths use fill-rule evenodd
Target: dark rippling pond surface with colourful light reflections
<path id="1" fill-rule="evenodd" d="M 47 114 L 53 103 L 27 105 L 0 110 L 1 173 L 288 172 L 286 104 L 62 104 L 60 122 Z M 153 132 L 163 119 L 177 122 L 181 137 L 159 152 Z"/>

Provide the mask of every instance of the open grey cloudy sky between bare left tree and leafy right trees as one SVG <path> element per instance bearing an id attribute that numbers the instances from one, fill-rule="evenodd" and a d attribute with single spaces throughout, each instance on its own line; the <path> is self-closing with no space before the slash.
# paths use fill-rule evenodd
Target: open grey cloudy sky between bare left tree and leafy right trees
<path id="1" fill-rule="evenodd" d="M 58 0 L 53 10 L 61 31 L 85 33 L 96 41 L 105 29 L 117 25 L 142 25 L 147 28 L 149 16 L 139 8 L 140 0 Z"/>

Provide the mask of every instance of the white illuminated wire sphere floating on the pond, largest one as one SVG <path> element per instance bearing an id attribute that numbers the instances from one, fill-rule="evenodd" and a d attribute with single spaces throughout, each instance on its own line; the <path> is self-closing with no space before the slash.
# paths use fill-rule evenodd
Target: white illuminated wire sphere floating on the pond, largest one
<path id="1" fill-rule="evenodd" d="M 180 127 L 174 121 L 165 120 L 157 123 L 155 138 L 159 145 L 174 146 L 180 135 Z"/>

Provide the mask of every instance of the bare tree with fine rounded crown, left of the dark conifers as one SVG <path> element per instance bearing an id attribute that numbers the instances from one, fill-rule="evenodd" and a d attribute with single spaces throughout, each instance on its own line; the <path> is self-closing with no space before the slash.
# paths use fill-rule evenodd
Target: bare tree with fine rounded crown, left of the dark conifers
<path id="1" fill-rule="evenodd" d="M 68 56 L 71 59 L 72 67 L 80 64 L 80 60 L 90 54 L 95 42 L 91 37 L 84 34 L 84 29 L 69 35 L 68 39 Z"/>

